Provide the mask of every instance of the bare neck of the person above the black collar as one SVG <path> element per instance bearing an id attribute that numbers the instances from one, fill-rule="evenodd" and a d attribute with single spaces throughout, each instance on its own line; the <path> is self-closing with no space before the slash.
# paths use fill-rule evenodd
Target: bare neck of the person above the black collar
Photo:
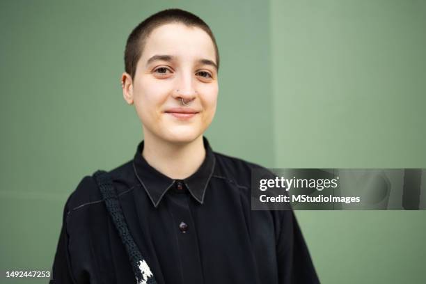
<path id="1" fill-rule="evenodd" d="M 152 168 L 175 180 L 195 173 L 203 164 L 205 154 L 203 135 L 189 143 L 173 143 L 146 134 L 143 140 L 143 158 Z"/>

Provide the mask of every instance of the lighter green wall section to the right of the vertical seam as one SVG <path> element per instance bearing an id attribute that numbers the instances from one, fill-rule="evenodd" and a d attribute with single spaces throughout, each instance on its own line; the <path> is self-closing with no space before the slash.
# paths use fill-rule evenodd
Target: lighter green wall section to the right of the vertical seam
<path id="1" fill-rule="evenodd" d="M 277 168 L 426 167 L 426 2 L 271 1 Z M 426 283 L 426 212 L 298 211 L 322 283 Z"/>

